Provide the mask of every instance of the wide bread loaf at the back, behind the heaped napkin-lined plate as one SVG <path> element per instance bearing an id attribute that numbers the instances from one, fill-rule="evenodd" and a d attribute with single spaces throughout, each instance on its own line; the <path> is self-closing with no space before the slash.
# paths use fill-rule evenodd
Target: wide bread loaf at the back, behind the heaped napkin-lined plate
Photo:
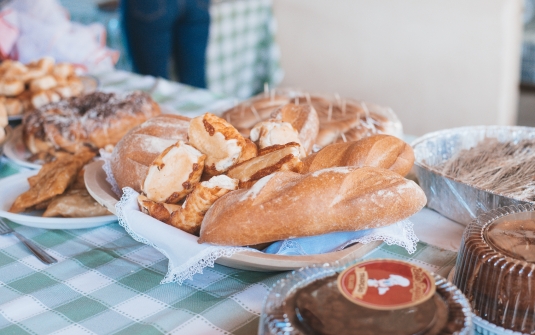
<path id="1" fill-rule="evenodd" d="M 281 106 L 293 102 L 314 108 L 319 119 L 316 149 L 338 142 L 357 141 L 374 134 L 398 135 L 399 121 L 389 108 L 353 99 L 295 91 L 270 92 L 227 110 L 222 117 L 244 136 L 261 121 L 272 118 Z"/>

